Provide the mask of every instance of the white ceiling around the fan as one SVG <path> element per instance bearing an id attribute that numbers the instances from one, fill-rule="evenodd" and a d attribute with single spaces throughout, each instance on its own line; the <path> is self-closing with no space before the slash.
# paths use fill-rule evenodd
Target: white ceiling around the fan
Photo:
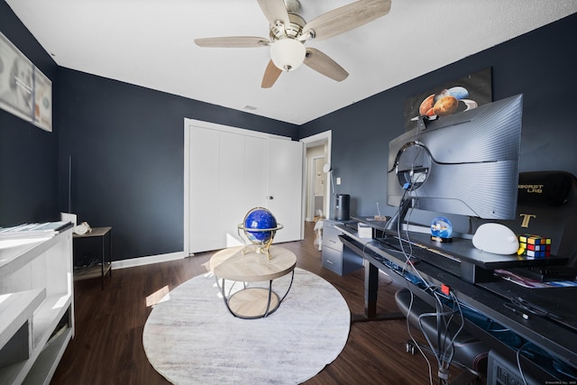
<path id="1" fill-rule="evenodd" d="M 5 1 L 61 67 L 292 124 L 577 12 L 575 0 L 392 0 L 390 13 L 374 22 L 307 41 L 349 72 L 343 82 L 302 66 L 263 89 L 269 48 L 200 48 L 193 41 L 268 38 L 256 0 Z M 353 0 L 300 2 L 299 14 L 310 21 Z"/>

